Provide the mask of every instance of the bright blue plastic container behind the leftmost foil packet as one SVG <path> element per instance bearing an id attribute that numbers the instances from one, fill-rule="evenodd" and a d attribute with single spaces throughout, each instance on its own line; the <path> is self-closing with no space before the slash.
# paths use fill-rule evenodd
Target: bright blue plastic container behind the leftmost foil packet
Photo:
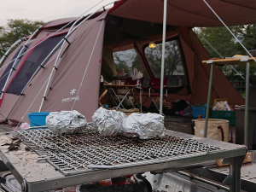
<path id="1" fill-rule="evenodd" d="M 49 115 L 49 112 L 28 113 L 27 117 L 29 119 L 30 127 L 46 125 L 45 119 L 47 115 Z"/>

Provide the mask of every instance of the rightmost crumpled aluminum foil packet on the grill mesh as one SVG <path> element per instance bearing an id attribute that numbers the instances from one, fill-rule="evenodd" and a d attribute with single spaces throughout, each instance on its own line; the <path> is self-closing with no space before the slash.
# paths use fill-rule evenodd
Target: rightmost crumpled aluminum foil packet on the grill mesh
<path id="1" fill-rule="evenodd" d="M 131 113 L 122 127 L 125 137 L 139 137 L 140 139 L 152 139 L 164 137 L 166 128 L 164 116 L 157 113 Z"/>

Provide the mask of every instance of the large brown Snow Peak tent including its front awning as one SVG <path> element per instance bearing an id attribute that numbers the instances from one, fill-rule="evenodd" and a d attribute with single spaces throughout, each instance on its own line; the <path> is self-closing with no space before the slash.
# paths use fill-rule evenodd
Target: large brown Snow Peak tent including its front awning
<path id="1" fill-rule="evenodd" d="M 256 5 L 253 1 L 209 0 L 208 2 L 228 25 L 242 25 L 256 21 Z M 106 68 L 102 65 L 107 63 L 108 67 L 115 71 L 111 63 L 112 52 L 134 50 L 142 64 L 141 70 L 144 76 L 148 79 L 157 76 L 154 68 L 157 69 L 158 66 L 152 66 L 147 51 L 151 51 L 148 50 L 149 42 L 154 41 L 156 44 L 161 42 L 162 9 L 162 1 L 119 1 L 112 9 L 98 12 L 90 20 L 79 22 L 80 26 L 67 38 L 61 53 L 59 49 L 55 50 L 55 53 L 41 66 L 50 51 L 67 35 L 70 26 L 55 32 L 61 26 L 73 21 L 73 18 L 54 20 L 45 24 L 37 36 L 27 44 L 27 49 L 35 44 L 38 46 L 22 55 L 15 72 L 7 82 L 7 88 L 3 90 L 0 101 L 1 120 L 27 122 L 27 113 L 37 112 L 44 100 L 41 111 L 76 109 L 90 121 L 92 114 L 98 108 L 101 68 L 104 70 Z M 195 0 L 193 3 L 188 0 L 174 0 L 168 3 L 167 25 L 166 42 L 172 42 L 170 46 L 178 51 L 177 66 L 183 68 L 183 77 L 179 77 L 183 78 L 180 81 L 182 84 L 171 89 L 172 94 L 168 95 L 167 100 L 172 102 L 176 99 L 185 99 L 192 104 L 206 102 L 210 67 L 203 65 L 201 61 L 210 59 L 210 55 L 196 38 L 192 27 L 221 26 L 221 23 L 201 0 Z M 48 38 L 53 33 L 55 35 Z M 22 45 L 20 44 L 9 55 L 3 65 L 15 58 Z M 57 55 L 61 56 L 56 62 L 57 67 L 54 67 Z M 130 63 L 130 66 L 133 64 Z M 11 65 L 12 63 L 0 71 L 3 79 L 0 81 L 1 89 L 6 82 L 3 76 L 9 72 Z M 38 68 L 40 70 L 37 70 Z M 230 104 L 242 104 L 243 98 L 220 69 L 216 67 L 214 70 L 212 99 L 227 98 Z M 170 77 L 180 75 L 177 68 L 174 73 L 172 70 L 171 74 Z M 170 79 L 169 83 L 172 84 Z M 44 93 L 46 93 L 45 97 Z"/>

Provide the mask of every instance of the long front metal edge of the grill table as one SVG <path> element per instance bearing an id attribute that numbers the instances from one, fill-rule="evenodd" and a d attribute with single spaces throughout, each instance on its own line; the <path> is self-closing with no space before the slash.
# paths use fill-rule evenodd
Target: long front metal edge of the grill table
<path id="1" fill-rule="evenodd" d="M 198 162 L 206 162 L 206 161 L 217 160 L 221 158 L 233 158 L 233 157 L 245 155 L 246 152 L 247 152 L 247 148 L 238 148 L 230 151 L 215 152 L 215 153 L 207 154 L 206 156 L 189 158 L 184 160 L 175 160 L 175 161 L 159 163 L 154 165 L 133 166 L 133 167 L 127 167 L 122 169 L 112 169 L 112 170 L 105 169 L 105 170 L 98 170 L 95 172 L 81 173 L 73 176 L 55 178 L 52 180 L 45 180 L 43 182 L 35 182 L 35 183 L 26 182 L 26 185 L 27 185 L 28 191 L 33 191 L 33 192 L 48 190 L 48 189 L 60 189 L 62 187 L 95 182 L 98 180 L 107 179 L 111 177 L 121 177 L 125 175 L 137 174 L 142 172 L 153 172 L 157 170 L 165 170 L 170 167 L 171 168 L 181 167 L 184 165 L 189 166 Z"/>

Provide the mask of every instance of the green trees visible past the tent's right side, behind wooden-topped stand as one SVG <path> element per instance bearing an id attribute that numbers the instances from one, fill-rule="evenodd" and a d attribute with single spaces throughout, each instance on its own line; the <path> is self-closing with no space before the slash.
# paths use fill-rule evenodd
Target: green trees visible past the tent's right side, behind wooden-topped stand
<path id="1" fill-rule="evenodd" d="M 234 32 L 236 37 L 241 43 L 248 49 L 256 49 L 256 24 L 244 25 L 244 26 L 230 26 L 230 30 Z M 236 41 L 230 32 L 224 27 L 207 27 L 199 28 L 196 31 L 197 37 L 200 38 L 201 43 L 207 49 L 212 57 L 219 58 L 231 57 L 233 55 L 247 55 L 245 49 Z M 203 39 L 205 38 L 212 46 L 218 50 L 216 53 L 209 44 Z M 246 76 L 245 66 L 235 66 L 236 70 L 243 76 Z M 221 67 L 222 71 L 230 81 L 241 80 L 241 77 L 230 67 Z M 256 68 L 250 67 L 250 83 L 256 84 Z"/>

